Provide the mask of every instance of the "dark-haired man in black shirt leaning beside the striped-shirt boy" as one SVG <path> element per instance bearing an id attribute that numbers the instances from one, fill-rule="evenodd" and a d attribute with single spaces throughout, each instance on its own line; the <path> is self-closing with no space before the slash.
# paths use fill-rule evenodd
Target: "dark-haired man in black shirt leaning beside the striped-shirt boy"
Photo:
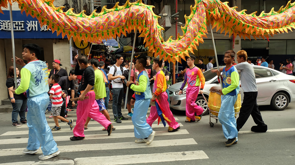
<path id="1" fill-rule="evenodd" d="M 58 81 L 58 85 L 60 85 L 61 90 L 63 92 L 65 92 L 66 95 L 68 95 L 68 89 L 71 89 L 71 97 L 75 98 L 75 82 L 74 80 L 76 80 L 77 76 L 74 74 L 75 70 L 70 70 L 70 74 L 69 76 L 63 76 L 59 79 Z M 67 111 L 63 111 L 65 110 L 66 106 L 65 106 L 65 98 L 63 98 L 63 105 L 61 106 L 61 111 L 60 111 L 60 116 L 65 117 L 65 112 Z M 73 108 L 75 106 L 75 102 L 72 101 L 71 107 Z"/>

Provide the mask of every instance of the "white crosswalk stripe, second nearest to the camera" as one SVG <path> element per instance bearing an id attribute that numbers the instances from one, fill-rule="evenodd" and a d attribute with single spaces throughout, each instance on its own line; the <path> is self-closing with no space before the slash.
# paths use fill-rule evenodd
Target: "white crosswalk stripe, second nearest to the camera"
<path id="1" fill-rule="evenodd" d="M 69 140 L 70 141 L 70 140 Z M 75 142 L 71 142 L 75 143 Z M 79 143 L 79 142 L 76 142 Z M 189 139 L 172 139 L 172 140 L 154 140 L 150 145 L 133 142 L 122 143 L 102 143 L 102 144 L 78 144 L 69 146 L 58 146 L 60 152 L 81 152 L 81 151 L 97 151 L 106 149 L 132 149 L 132 148 L 146 148 L 146 147 L 167 147 L 197 144 L 193 138 Z M 23 155 L 24 148 L 0 149 L 0 156 Z M 41 149 L 38 149 L 36 154 L 42 154 Z M 129 163 L 129 162 L 127 162 Z"/>

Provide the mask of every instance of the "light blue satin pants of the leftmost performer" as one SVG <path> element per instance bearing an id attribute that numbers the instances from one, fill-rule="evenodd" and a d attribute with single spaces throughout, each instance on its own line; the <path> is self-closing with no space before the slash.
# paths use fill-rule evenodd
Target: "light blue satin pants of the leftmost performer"
<path id="1" fill-rule="evenodd" d="M 50 155 L 58 151 L 45 117 L 48 104 L 49 96 L 47 93 L 28 97 L 27 125 L 29 127 L 29 140 L 27 149 L 37 150 L 41 143 L 43 155 Z"/>

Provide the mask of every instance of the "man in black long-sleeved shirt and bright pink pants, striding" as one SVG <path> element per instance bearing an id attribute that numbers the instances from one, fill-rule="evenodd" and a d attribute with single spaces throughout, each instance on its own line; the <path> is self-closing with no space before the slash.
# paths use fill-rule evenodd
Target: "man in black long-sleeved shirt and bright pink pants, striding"
<path id="1" fill-rule="evenodd" d="M 71 140 L 83 140 L 85 139 L 84 135 L 84 124 L 87 117 L 94 119 L 99 122 L 108 132 L 108 135 L 112 133 L 112 123 L 106 119 L 106 117 L 99 112 L 99 106 L 95 100 L 94 93 L 94 69 L 89 65 L 88 59 L 86 56 L 76 55 L 75 58 L 78 60 L 78 63 L 75 68 L 75 75 L 82 75 L 81 85 L 78 92 L 80 96 L 78 97 L 78 106 L 77 106 L 77 121 L 76 126 L 73 130 L 74 136 L 71 137 Z M 80 70 L 81 67 L 81 70 Z M 88 96 L 89 98 L 85 97 Z"/>

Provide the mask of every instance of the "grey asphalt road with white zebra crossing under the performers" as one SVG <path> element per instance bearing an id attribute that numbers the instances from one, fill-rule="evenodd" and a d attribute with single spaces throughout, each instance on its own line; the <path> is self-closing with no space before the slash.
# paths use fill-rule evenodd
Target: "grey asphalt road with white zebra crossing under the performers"
<path id="1" fill-rule="evenodd" d="M 184 111 L 173 111 L 176 121 L 181 123 L 179 132 L 169 133 L 167 127 L 157 126 L 154 142 L 134 143 L 131 119 L 117 127 L 111 136 L 101 131 L 95 121 L 89 123 L 86 138 L 70 141 L 73 133 L 64 123 L 62 130 L 53 132 L 61 153 L 54 159 L 40 161 L 38 156 L 21 154 L 26 147 L 28 130 L 26 125 L 12 127 L 11 113 L 0 114 L 0 163 L 14 164 L 294 164 L 295 157 L 295 103 L 290 103 L 284 111 L 271 110 L 260 106 L 264 122 L 268 125 L 266 133 L 252 133 L 255 125 L 250 117 L 238 135 L 238 144 L 225 147 L 226 139 L 221 124 L 214 122 L 209 126 L 209 115 L 200 122 L 185 123 Z M 126 112 L 126 111 L 125 111 Z M 69 112 L 69 119 L 75 119 L 76 112 Z M 123 113 L 124 114 L 124 113 Z M 126 113 L 125 113 L 126 114 Z M 48 117 L 49 114 L 46 114 Z M 112 117 L 112 113 L 110 112 Z M 126 117 L 127 115 L 125 115 Z M 53 119 L 47 119 L 50 128 Z M 17 132 L 16 132 L 17 131 Z M 96 138 L 97 137 L 97 138 Z M 88 138 L 88 139 L 87 139 Z M 106 145 L 107 144 L 107 145 Z M 18 162 L 18 163 L 15 163 Z"/>

